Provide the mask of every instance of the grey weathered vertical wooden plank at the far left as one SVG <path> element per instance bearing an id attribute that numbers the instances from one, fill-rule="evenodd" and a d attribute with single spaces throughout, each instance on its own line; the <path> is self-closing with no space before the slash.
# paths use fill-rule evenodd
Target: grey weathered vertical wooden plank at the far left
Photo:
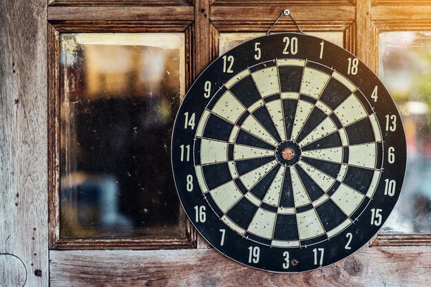
<path id="1" fill-rule="evenodd" d="M 46 4 L 0 6 L 0 253 L 22 260 L 32 287 L 48 286 Z"/>

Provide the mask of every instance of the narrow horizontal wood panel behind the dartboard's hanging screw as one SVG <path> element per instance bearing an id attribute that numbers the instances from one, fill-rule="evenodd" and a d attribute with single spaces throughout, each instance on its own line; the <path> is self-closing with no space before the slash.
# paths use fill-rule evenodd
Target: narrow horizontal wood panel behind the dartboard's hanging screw
<path id="1" fill-rule="evenodd" d="M 272 21 L 274 23 L 284 9 L 284 7 L 272 6 L 272 3 L 271 6 L 212 6 L 211 21 Z M 297 21 L 355 20 L 355 6 L 293 6 L 289 10 Z M 300 22 L 299 25 L 301 25 Z"/>

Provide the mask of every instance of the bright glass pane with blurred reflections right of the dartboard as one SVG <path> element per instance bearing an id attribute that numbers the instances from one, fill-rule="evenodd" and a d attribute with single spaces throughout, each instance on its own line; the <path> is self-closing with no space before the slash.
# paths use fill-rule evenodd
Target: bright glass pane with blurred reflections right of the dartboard
<path id="1" fill-rule="evenodd" d="M 431 32 L 381 33 L 379 77 L 395 98 L 408 145 L 403 190 L 382 233 L 431 233 Z"/>

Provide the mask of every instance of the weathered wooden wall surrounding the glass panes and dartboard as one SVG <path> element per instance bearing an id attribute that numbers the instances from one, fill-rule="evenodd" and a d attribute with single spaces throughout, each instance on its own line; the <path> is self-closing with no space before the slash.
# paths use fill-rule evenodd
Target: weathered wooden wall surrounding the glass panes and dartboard
<path id="1" fill-rule="evenodd" d="M 429 0 L 277 0 L 271 6 L 257 0 L 191 0 L 195 7 L 165 0 L 159 3 L 169 7 L 137 7 L 143 2 L 151 0 L 48 0 L 49 14 L 47 0 L 0 4 L 1 287 L 48 286 L 49 281 L 67 287 L 431 286 L 430 236 L 378 237 L 374 246 L 333 266 L 297 275 L 242 266 L 200 238 L 196 249 L 52 250 L 49 259 L 48 21 L 63 31 L 154 31 L 151 25 L 164 27 L 167 21 L 169 27 L 189 27 L 187 35 L 199 41 L 189 49 L 194 56 L 188 83 L 216 56 L 218 32 L 266 31 L 287 7 L 305 31 L 345 31 L 348 50 L 374 69 L 379 31 L 431 30 Z M 123 7 L 112 7 L 118 3 Z M 287 29 L 295 26 L 285 22 L 275 31 Z"/>

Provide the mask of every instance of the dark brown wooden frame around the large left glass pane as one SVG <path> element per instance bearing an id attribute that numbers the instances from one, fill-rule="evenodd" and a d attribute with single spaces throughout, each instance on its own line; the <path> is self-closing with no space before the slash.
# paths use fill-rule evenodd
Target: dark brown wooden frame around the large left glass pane
<path id="1" fill-rule="evenodd" d="M 67 1 L 68 2 L 68 1 Z M 79 2 L 79 1 L 76 1 Z M 54 2 L 55 3 L 55 2 Z M 52 9 L 54 8 L 54 9 Z M 48 23 L 48 240 L 51 249 L 169 249 L 196 247 L 196 230 L 187 220 L 180 208 L 180 226 L 185 228 L 185 237 L 118 237 L 118 238 L 67 238 L 60 237 L 60 34 L 62 32 L 182 32 L 185 34 L 186 88 L 191 84 L 193 59 L 193 21 L 190 17 L 190 6 L 180 6 L 170 14 L 160 15 L 160 8 L 146 9 L 148 21 L 136 19 L 123 21 L 119 16 L 116 21 L 107 19 L 79 19 L 82 16 L 76 8 L 66 7 L 66 10 L 50 7 Z M 85 11 L 88 8 L 85 8 Z M 136 8 L 134 8 L 136 9 Z M 81 10 L 81 8 L 78 8 Z M 103 14 L 109 14 L 111 8 L 103 8 Z M 98 9 L 97 12 L 101 10 Z M 95 13 L 97 13 L 95 12 Z M 136 14 L 136 11 L 118 8 L 121 15 Z M 176 14 L 176 12 L 178 12 Z M 69 14 L 70 13 L 70 14 Z M 61 14 L 59 16 L 58 14 Z M 54 15 L 54 16 L 53 16 Z M 65 16 L 66 15 L 66 16 Z M 69 15 L 70 17 L 68 17 Z M 59 20 L 59 18 L 66 20 Z M 110 17 L 110 16 L 109 16 Z M 70 19 L 67 19 L 70 18 Z M 101 17 L 103 18 L 103 17 Z"/>

